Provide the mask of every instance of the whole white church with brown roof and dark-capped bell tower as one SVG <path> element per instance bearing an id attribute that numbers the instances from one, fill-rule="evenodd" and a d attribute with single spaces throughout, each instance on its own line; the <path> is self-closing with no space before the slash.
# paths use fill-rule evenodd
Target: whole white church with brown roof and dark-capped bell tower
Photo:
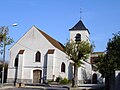
<path id="1" fill-rule="evenodd" d="M 70 40 L 79 36 L 89 42 L 89 31 L 80 20 L 70 30 Z M 42 83 L 43 80 L 55 80 L 56 77 L 73 78 L 70 60 L 63 52 L 64 46 L 42 30 L 32 26 L 10 49 L 7 82 Z M 83 61 L 78 70 L 78 79 L 91 80 L 90 58 Z"/>

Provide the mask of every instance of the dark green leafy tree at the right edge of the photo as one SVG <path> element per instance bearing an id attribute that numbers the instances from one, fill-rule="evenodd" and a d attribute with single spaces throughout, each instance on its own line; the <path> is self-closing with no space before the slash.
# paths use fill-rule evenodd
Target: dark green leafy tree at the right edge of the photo
<path id="1" fill-rule="evenodd" d="M 115 70 L 120 69 L 120 32 L 109 39 L 105 55 L 99 56 L 97 61 L 97 69 L 105 77 L 106 87 L 109 89 L 110 78 Z"/>

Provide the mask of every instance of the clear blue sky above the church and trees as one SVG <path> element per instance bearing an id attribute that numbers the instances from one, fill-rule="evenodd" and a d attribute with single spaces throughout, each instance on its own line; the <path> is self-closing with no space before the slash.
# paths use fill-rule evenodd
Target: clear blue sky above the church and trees
<path id="1" fill-rule="evenodd" d="M 0 0 L 0 11 L 0 27 L 18 23 L 9 27 L 13 44 L 33 25 L 65 44 L 80 17 L 95 52 L 105 51 L 112 34 L 120 31 L 120 0 Z M 7 60 L 12 45 L 7 46 Z"/>

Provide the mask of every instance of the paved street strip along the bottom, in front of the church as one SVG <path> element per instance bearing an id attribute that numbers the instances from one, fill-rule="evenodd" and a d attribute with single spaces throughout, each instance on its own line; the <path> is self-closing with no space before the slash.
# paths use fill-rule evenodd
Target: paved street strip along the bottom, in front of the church
<path id="1" fill-rule="evenodd" d="M 24 87 L 14 87 L 14 86 L 0 86 L 0 90 L 82 90 L 82 89 L 97 89 L 97 90 L 103 90 L 104 85 L 99 85 L 99 84 L 81 84 L 77 88 L 72 88 L 70 85 L 47 85 L 47 86 L 42 86 L 42 85 L 26 85 Z"/>

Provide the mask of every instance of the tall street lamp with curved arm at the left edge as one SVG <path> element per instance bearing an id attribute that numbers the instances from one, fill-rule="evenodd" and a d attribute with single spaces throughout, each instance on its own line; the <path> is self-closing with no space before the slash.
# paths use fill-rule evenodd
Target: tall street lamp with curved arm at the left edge
<path id="1" fill-rule="evenodd" d="M 17 23 L 14 23 L 10 26 L 17 26 Z M 2 86 L 4 83 L 4 71 L 5 71 L 5 51 L 6 51 L 6 33 L 8 32 L 8 27 L 10 26 L 3 26 L 2 29 L 2 34 L 3 34 L 3 68 L 2 68 Z"/>

